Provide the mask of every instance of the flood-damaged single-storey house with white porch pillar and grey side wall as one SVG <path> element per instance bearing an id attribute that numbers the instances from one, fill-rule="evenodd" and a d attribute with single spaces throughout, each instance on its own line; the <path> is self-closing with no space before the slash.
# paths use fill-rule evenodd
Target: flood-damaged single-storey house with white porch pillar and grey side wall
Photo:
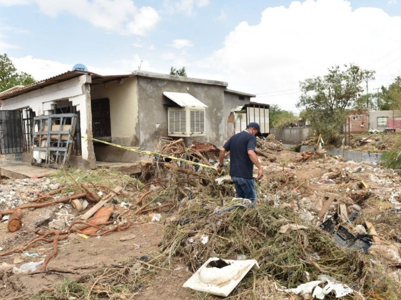
<path id="1" fill-rule="evenodd" d="M 133 151 L 81 135 L 141 150 L 154 150 L 164 136 L 182 137 L 187 144 L 197 140 L 220 146 L 232 135 L 233 109 L 255 97 L 227 86 L 223 81 L 147 71 L 107 76 L 67 71 L 0 93 L 0 125 L 8 122 L 9 131 L 19 132 L 12 139 L 7 132 L 0 135 L 0 154 L 29 153 L 33 116 L 60 113 L 78 115 L 71 164 L 94 167 L 99 160 L 138 159 Z"/>

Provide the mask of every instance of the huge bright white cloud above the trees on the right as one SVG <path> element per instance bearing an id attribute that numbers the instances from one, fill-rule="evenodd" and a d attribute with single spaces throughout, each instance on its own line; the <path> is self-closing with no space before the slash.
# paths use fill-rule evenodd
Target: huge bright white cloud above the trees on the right
<path id="1" fill-rule="evenodd" d="M 326 74 L 334 64 L 353 62 L 376 69 L 377 78 L 389 73 L 395 77 L 401 59 L 391 61 L 400 58 L 399 51 L 378 59 L 399 46 L 399 32 L 401 17 L 390 17 L 379 8 L 352 10 L 344 0 L 294 1 L 288 8 L 265 9 L 255 26 L 238 24 L 224 47 L 197 66 L 214 68 L 219 74 L 215 79 L 228 81 L 230 88 L 251 93 L 284 90 L 258 100 L 289 109 L 298 100 L 290 89 L 300 80 Z M 381 82 L 369 82 L 369 88 Z"/>

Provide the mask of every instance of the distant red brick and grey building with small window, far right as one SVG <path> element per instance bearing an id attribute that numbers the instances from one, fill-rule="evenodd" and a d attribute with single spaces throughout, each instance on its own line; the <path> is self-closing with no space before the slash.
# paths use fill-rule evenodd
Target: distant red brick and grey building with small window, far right
<path id="1" fill-rule="evenodd" d="M 345 120 L 344 130 L 350 133 L 361 133 L 369 129 L 383 131 L 393 126 L 397 130 L 401 129 L 401 111 L 362 109 L 350 112 Z"/>

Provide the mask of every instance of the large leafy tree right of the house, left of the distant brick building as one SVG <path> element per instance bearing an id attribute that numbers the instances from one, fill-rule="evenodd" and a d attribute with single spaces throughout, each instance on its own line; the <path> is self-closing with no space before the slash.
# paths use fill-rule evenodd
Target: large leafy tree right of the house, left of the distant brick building
<path id="1" fill-rule="evenodd" d="M 307 78 L 300 82 L 301 96 L 297 107 L 303 107 L 303 116 L 310 127 L 328 143 L 335 143 L 342 133 L 346 109 L 353 107 L 363 88 L 364 80 L 374 79 L 374 71 L 355 64 L 334 65 L 323 77 Z"/>

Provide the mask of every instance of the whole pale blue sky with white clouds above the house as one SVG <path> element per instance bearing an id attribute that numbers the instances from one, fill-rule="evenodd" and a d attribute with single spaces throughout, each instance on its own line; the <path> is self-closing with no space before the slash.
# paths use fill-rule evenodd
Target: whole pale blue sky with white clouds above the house
<path id="1" fill-rule="evenodd" d="M 299 81 L 334 64 L 401 75 L 397 0 L 0 0 L 0 53 L 37 80 L 85 64 L 227 81 L 298 112 Z"/>

